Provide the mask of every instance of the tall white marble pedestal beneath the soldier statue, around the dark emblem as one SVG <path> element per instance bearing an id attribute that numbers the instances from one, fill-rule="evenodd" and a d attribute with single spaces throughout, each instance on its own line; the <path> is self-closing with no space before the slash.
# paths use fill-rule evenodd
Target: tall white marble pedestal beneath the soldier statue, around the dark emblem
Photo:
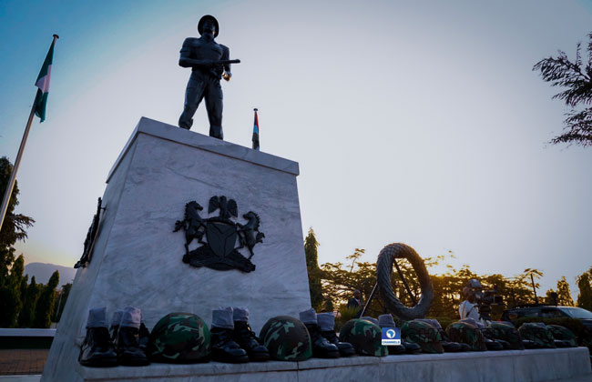
<path id="1" fill-rule="evenodd" d="M 194 313 L 210 325 L 212 308 L 248 307 L 258 333 L 270 317 L 298 317 L 311 307 L 298 174 L 296 162 L 141 118 L 107 176 L 92 261 L 77 271 L 42 380 L 76 379 L 90 307 L 109 314 L 139 307 L 148 329 L 171 312 Z M 265 238 L 254 249 L 255 271 L 182 262 L 185 236 L 173 232 L 175 222 L 191 200 L 210 217 L 211 196 L 235 199 L 241 224 L 242 214 L 259 214 Z"/>

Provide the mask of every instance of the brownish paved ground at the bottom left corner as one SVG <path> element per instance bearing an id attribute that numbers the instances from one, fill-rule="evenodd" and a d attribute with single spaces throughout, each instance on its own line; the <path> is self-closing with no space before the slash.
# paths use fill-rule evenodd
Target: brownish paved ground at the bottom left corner
<path id="1" fill-rule="evenodd" d="M 41 374 L 48 353 L 49 349 L 0 349 L 0 376 Z"/>

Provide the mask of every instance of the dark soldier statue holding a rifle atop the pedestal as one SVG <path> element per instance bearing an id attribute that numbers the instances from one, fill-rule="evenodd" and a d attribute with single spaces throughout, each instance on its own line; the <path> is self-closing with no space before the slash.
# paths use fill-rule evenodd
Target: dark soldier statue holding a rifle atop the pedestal
<path id="1" fill-rule="evenodd" d="M 193 125 L 193 115 L 199 103 L 206 98 L 209 119 L 209 136 L 223 139 L 222 134 L 222 88 L 219 80 L 230 81 L 230 60 L 228 46 L 214 41 L 219 34 L 218 20 L 212 15 L 199 19 L 199 38 L 189 37 L 183 42 L 179 65 L 191 68 L 191 76 L 185 92 L 185 107 L 179 117 L 179 127 L 188 129 Z"/>

